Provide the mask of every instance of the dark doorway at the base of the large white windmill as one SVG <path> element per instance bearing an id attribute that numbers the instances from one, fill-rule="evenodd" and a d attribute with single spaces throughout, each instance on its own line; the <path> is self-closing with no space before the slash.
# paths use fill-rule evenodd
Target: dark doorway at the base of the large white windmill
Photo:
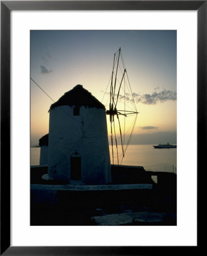
<path id="1" fill-rule="evenodd" d="M 75 154 L 71 156 L 71 180 L 81 180 L 81 157 Z"/>

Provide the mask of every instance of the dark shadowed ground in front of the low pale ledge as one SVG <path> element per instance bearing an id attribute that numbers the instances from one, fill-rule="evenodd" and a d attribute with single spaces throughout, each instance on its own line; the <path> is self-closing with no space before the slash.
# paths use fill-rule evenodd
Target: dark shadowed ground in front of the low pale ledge
<path id="1" fill-rule="evenodd" d="M 34 203 L 31 199 L 31 225 L 105 225 L 96 217 L 131 215 L 118 225 L 176 225 L 176 190 L 169 187 L 125 191 L 57 191 L 56 203 Z M 142 213 L 142 220 L 133 218 Z M 150 219 L 156 213 L 163 217 Z M 119 214 L 119 215 L 117 215 Z M 97 218 L 97 219 L 98 219 Z M 111 224 L 117 225 L 114 221 Z"/>

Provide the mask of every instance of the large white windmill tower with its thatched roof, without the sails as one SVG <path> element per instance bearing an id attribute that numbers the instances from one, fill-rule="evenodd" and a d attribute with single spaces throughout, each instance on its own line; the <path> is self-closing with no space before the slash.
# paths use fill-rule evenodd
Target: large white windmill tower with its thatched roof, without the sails
<path id="1" fill-rule="evenodd" d="M 49 109 L 48 177 L 70 184 L 111 181 L 105 106 L 82 85 Z"/>

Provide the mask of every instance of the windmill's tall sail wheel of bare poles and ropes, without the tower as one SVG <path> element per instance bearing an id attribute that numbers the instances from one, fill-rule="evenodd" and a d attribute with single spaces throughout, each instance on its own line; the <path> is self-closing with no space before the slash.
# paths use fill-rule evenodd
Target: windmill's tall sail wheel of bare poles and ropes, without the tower
<path id="1" fill-rule="evenodd" d="M 110 121 L 111 156 L 113 165 L 115 159 L 119 165 L 125 157 L 138 115 L 121 48 L 114 53 L 109 84 L 110 92 L 107 94 L 110 103 L 106 115 L 109 115 Z"/>

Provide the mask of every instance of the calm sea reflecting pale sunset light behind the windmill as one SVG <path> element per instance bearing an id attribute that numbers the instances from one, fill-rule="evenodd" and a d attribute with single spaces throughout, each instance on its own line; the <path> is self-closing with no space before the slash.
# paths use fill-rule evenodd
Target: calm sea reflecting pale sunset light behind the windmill
<path id="1" fill-rule="evenodd" d="M 111 154 L 111 147 L 110 155 Z M 114 154 L 115 155 L 115 154 Z M 31 147 L 30 165 L 38 166 L 40 147 Z M 111 163 L 113 163 L 111 159 Z M 114 158 L 114 164 L 117 164 Z M 163 171 L 177 173 L 177 148 L 154 148 L 153 145 L 129 145 L 125 158 L 119 164 L 126 166 L 143 166 L 146 171 Z"/>

